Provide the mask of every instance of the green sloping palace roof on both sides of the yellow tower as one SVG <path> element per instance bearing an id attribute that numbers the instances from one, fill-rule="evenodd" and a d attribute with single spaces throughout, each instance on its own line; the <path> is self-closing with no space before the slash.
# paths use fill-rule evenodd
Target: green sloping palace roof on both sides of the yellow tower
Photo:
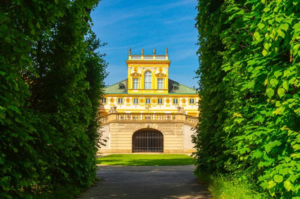
<path id="1" fill-rule="evenodd" d="M 109 85 L 105 88 L 106 94 L 117 94 L 117 93 L 128 93 L 128 79 L 122 80 L 120 82 L 117 82 L 115 84 Z M 124 89 L 120 89 L 120 85 L 124 85 Z M 177 89 L 173 88 L 173 85 L 177 87 Z M 168 93 L 176 93 L 176 94 L 196 94 L 196 90 L 193 88 L 190 88 L 186 85 L 183 85 L 181 83 L 178 83 L 177 81 L 168 79 Z"/>

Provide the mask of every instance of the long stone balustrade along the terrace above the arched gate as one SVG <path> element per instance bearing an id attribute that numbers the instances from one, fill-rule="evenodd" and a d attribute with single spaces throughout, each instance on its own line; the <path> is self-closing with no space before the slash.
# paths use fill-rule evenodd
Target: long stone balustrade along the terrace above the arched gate
<path id="1" fill-rule="evenodd" d="M 117 113 L 112 112 L 100 117 L 102 125 L 110 122 L 183 122 L 196 126 L 198 117 L 184 113 Z"/>

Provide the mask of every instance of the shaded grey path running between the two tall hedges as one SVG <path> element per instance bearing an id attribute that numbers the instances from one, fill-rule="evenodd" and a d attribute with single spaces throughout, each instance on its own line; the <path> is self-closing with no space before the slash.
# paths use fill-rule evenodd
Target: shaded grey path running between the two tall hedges
<path id="1" fill-rule="evenodd" d="M 103 180 L 79 198 L 212 198 L 197 182 L 193 170 L 193 165 L 102 165 L 97 176 Z"/>

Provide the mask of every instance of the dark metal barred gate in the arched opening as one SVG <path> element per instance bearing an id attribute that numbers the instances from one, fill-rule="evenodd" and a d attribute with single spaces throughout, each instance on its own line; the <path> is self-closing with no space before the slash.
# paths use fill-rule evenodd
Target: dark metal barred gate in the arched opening
<path id="1" fill-rule="evenodd" d="M 163 152 L 163 134 L 154 129 L 134 132 L 132 152 Z"/>

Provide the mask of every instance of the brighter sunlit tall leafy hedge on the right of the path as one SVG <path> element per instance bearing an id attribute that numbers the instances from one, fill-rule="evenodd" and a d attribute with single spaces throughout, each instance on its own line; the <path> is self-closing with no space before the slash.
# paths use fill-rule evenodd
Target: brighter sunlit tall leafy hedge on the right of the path
<path id="1" fill-rule="evenodd" d="M 300 2 L 198 0 L 197 172 L 300 198 Z"/>

